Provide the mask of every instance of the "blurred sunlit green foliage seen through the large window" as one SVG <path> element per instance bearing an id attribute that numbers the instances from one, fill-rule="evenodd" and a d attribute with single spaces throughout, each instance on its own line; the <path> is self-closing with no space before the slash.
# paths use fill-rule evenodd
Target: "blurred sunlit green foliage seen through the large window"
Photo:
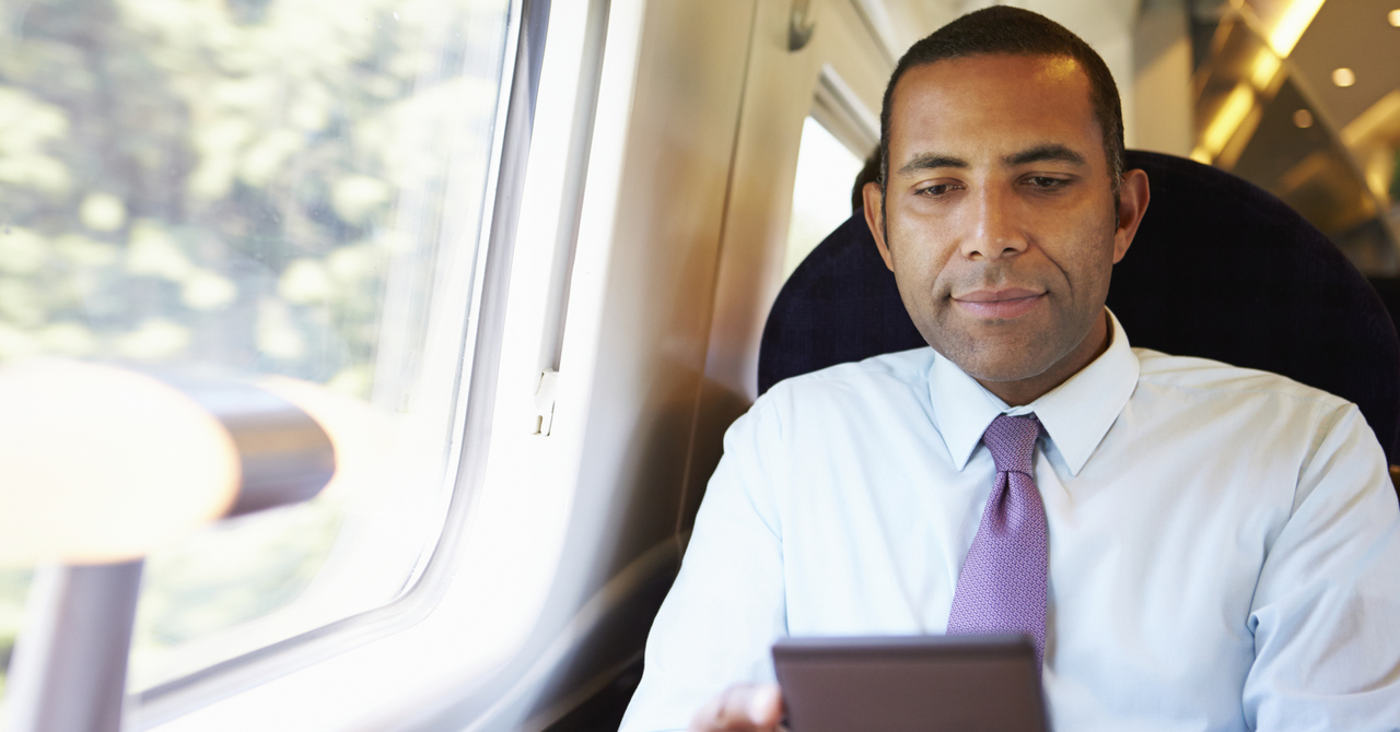
<path id="1" fill-rule="evenodd" d="M 391 280 L 412 330 L 435 242 L 463 234 L 444 214 L 480 202 L 449 174 L 486 165 L 454 141 L 494 113 L 498 80 L 463 60 L 498 53 L 504 7 L 0 0 L 0 364 L 216 364 L 375 399 Z M 314 502 L 153 560 L 137 645 L 286 605 L 339 522 Z M 0 572 L 0 661 L 27 585 Z"/>

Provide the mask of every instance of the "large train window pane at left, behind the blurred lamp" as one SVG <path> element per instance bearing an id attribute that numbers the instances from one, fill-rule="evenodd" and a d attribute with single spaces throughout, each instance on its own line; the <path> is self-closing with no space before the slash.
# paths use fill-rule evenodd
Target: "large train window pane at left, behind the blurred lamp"
<path id="1" fill-rule="evenodd" d="M 148 558 L 130 689 L 402 596 L 463 439 L 511 3 L 11 6 L 0 363 L 253 375 L 328 421 L 339 453 L 314 501 Z M 0 575 L 0 661 L 27 577 Z"/>

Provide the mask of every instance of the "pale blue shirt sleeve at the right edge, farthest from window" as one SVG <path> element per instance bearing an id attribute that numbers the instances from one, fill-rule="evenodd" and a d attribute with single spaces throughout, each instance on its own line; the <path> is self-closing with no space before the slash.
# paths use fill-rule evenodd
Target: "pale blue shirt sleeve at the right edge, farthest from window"
<path id="1" fill-rule="evenodd" d="M 1252 729 L 1400 729 L 1400 509 L 1354 404 L 1319 430 L 1260 571 L 1245 680 Z"/>

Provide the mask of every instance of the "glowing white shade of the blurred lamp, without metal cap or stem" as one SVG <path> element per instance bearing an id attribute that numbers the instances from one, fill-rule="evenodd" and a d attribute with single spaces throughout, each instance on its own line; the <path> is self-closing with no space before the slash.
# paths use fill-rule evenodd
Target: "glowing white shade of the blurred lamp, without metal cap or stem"
<path id="1" fill-rule="evenodd" d="M 148 375 L 39 358 L 0 368 L 0 563 L 98 564 L 223 516 L 228 430 Z"/>

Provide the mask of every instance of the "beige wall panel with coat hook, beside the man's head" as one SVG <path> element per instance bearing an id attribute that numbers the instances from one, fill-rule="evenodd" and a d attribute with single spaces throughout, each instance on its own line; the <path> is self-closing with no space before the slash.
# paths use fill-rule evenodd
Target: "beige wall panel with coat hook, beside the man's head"
<path id="1" fill-rule="evenodd" d="M 889 77 L 851 0 L 818 0 L 812 7 L 812 39 L 790 52 L 791 0 L 759 1 L 680 530 L 689 529 L 720 460 L 724 430 L 757 396 L 759 339 L 783 284 L 802 120 L 822 66 L 832 66 L 875 115 Z"/>

